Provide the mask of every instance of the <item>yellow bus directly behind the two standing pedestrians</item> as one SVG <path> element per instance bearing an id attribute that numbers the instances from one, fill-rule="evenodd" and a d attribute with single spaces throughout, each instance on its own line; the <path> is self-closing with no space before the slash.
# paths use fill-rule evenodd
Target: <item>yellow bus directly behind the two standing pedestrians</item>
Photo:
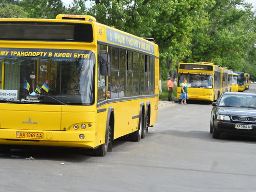
<path id="1" fill-rule="evenodd" d="M 187 79 L 189 99 L 215 101 L 221 94 L 221 67 L 213 63 L 180 63 L 177 78 L 177 99 L 184 79 Z"/>

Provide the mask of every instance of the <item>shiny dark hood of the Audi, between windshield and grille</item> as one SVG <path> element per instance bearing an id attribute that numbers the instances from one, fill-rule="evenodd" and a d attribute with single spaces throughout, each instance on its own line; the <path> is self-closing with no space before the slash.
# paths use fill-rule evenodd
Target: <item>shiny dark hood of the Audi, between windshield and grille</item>
<path id="1" fill-rule="evenodd" d="M 232 114 L 232 115 L 256 115 L 256 109 L 239 108 L 239 107 L 218 107 L 219 114 Z"/>

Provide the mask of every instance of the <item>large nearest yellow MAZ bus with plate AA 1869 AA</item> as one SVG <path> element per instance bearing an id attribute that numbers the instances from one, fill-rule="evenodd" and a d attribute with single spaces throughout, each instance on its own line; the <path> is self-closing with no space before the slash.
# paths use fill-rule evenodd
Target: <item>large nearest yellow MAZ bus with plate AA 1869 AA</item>
<path id="1" fill-rule="evenodd" d="M 144 138 L 158 116 L 159 53 L 152 39 L 91 16 L 0 19 L 0 150 L 93 149 Z"/>

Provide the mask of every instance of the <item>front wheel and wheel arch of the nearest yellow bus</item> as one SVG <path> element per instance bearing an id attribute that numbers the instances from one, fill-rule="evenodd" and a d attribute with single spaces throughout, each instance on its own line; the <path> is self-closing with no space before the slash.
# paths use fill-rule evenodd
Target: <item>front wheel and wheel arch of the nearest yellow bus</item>
<path id="1" fill-rule="evenodd" d="M 108 108 L 105 141 L 102 145 L 93 150 L 95 156 L 105 156 L 107 152 L 112 151 L 112 142 L 114 139 L 114 108 Z"/>

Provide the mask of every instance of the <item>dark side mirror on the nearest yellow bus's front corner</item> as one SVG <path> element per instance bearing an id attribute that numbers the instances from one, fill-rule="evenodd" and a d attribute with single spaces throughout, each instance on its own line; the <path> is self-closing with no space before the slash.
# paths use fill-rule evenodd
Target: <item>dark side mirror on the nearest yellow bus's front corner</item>
<path id="1" fill-rule="evenodd" d="M 100 52 L 98 62 L 100 65 L 100 75 L 108 76 L 110 74 L 110 56 L 106 50 Z"/>

